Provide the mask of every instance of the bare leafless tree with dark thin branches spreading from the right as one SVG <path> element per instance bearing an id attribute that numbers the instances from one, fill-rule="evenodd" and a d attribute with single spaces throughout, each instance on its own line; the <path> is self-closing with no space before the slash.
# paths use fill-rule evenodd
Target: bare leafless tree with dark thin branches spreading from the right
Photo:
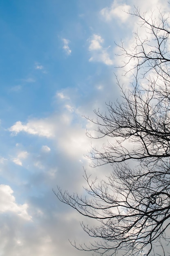
<path id="1" fill-rule="evenodd" d="M 117 79 L 122 101 L 108 103 L 105 114 L 95 110 L 97 119 L 91 120 L 97 138 L 107 142 L 92 148 L 89 158 L 94 166 L 111 164 L 113 172 L 99 183 L 85 172 L 86 198 L 60 189 L 56 195 L 95 220 L 94 227 L 82 227 L 96 242 L 78 249 L 163 256 L 169 255 L 170 241 L 170 15 L 159 11 L 159 18 L 147 18 L 138 9 L 131 14 L 146 31 L 144 39 L 135 34 L 131 51 L 119 45 L 133 81 L 125 89 Z"/>

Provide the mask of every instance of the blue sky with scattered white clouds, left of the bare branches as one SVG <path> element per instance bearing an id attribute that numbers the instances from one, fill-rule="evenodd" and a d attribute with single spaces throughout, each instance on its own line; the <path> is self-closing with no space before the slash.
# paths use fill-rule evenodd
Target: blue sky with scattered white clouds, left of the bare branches
<path id="1" fill-rule="evenodd" d="M 89 166 L 102 141 L 86 136 L 85 117 L 120 97 L 115 43 L 131 45 L 134 5 L 170 10 L 166 0 L 0 1 L 0 256 L 92 255 L 70 245 L 90 238 L 52 190 L 83 194 L 83 167 L 111 171 Z"/>

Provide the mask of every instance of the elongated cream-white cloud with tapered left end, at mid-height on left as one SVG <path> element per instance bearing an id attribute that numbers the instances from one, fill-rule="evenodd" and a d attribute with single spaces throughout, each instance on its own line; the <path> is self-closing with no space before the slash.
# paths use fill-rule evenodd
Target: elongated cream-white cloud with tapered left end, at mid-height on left
<path id="1" fill-rule="evenodd" d="M 9 131 L 14 135 L 19 132 L 27 132 L 32 135 L 47 138 L 54 136 L 54 127 L 47 119 L 31 120 L 27 124 L 22 124 L 21 121 L 17 121 L 9 128 Z"/>

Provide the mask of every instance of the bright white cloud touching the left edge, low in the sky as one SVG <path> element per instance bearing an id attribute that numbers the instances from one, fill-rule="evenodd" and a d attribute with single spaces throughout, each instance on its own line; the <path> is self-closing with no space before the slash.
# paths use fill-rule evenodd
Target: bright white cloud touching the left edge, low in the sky
<path id="1" fill-rule="evenodd" d="M 26 220 L 31 220 L 31 216 L 27 213 L 28 205 L 17 204 L 12 194 L 13 190 L 10 186 L 4 184 L 0 185 L 0 212 L 11 211 Z"/>

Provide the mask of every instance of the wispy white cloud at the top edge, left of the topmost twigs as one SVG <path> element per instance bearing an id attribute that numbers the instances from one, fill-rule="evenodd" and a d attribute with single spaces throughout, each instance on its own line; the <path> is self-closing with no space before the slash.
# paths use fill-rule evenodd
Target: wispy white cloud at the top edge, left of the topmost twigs
<path id="1" fill-rule="evenodd" d="M 111 21 L 112 19 L 119 18 L 121 22 L 126 22 L 129 15 L 126 13 L 130 10 L 130 5 L 118 4 L 116 1 L 113 2 L 111 7 L 105 7 L 101 10 L 101 15 L 106 21 Z"/>

